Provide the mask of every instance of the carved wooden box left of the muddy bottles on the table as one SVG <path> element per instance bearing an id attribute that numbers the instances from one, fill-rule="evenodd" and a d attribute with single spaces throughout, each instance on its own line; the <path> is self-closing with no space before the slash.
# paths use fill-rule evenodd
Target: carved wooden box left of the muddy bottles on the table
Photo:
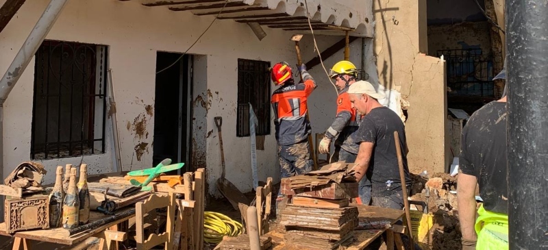
<path id="1" fill-rule="evenodd" d="M 24 199 L 6 199 L 4 208 L 4 221 L 8 234 L 27 229 L 49 228 L 49 199 L 47 195 L 34 195 Z"/>

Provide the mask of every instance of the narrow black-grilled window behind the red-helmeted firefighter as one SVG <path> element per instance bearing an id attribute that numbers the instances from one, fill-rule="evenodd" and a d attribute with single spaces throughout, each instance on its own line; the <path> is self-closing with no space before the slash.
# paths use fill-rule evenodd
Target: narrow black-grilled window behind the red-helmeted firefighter
<path id="1" fill-rule="evenodd" d="M 270 62 L 238 59 L 238 119 L 236 136 L 250 136 L 249 103 L 259 121 L 257 136 L 270 134 Z"/>

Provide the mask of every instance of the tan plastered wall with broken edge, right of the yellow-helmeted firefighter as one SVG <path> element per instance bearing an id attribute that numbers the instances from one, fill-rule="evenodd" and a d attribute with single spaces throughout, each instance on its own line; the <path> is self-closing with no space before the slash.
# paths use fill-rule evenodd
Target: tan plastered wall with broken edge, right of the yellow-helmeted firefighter
<path id="1" fill-rule="evenodd" d="M 427 53 L 426 0 L 373 1 L 379 82 L 408 101 L 410 171 L 443 172 L 449 164 L 445 62 Z"/>

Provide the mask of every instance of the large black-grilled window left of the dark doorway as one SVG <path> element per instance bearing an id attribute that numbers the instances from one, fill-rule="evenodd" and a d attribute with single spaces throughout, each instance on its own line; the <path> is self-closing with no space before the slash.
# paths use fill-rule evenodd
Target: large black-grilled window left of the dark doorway
<path id="1" fill-rule="evenodd" d="M 46 40 L 36 52 L 31 158 L 105 152 L 107 47 Z"/>

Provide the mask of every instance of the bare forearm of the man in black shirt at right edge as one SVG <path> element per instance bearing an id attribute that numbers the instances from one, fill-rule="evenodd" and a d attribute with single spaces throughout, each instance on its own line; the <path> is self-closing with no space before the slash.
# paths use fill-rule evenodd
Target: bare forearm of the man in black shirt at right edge
<path id="1" fill-rule="evenodd" d="M 462 238 L 465 240 L 475 241 L 475 187 L 477 179 L 474 175 L 458 174 L 457 185 L 457 203 L 458 203 L 458 218 L 460 221 L 460 230 Z"/>

